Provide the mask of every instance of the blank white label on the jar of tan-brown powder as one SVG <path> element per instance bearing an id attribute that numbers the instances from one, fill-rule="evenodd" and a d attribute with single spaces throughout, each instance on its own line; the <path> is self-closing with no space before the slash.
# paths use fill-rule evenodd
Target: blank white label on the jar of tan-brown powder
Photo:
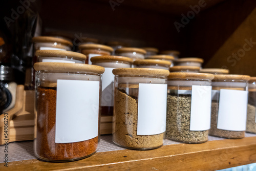
<path id="1" fill-rule="evenodd" d="M 139 83 L 137 135 L 165 132 L 167 84 Z"/>

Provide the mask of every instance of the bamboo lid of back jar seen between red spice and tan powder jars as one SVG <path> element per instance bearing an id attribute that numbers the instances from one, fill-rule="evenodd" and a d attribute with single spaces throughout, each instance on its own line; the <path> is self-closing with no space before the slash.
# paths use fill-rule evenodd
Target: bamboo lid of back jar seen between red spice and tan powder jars
<path id="1" fill-rule="evenodd" d="M 133 63 L 133 59 L 129 57 L 123 56 L 111 56 L 111 55 L 102 55 L 102 56 L 95 56 L 91 58 L 92 62 L 100 62 L 100 61 L 124 61 Z"/>

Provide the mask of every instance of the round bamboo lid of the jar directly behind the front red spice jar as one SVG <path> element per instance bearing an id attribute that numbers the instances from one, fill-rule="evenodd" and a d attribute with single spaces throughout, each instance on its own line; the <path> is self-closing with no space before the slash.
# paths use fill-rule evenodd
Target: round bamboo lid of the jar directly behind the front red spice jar
<path id="1" fill-rule="evenodd" d="M 68 56 L 75 59 L 86 60 L 86 55 L 71 52 L 71 51 L 58 51 L 58 50 L 38 50 L 35 52 L 35 55 L 38 57 L 56 57 L 56 56 Z"/>

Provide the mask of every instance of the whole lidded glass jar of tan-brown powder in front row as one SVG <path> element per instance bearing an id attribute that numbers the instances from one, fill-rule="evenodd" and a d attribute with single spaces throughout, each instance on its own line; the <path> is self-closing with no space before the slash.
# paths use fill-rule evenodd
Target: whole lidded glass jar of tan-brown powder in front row
<path id="1" fill-rule="evenodd" d="M 113 141 L 130 149 L 163 145 L 169 71 L 150 68 L 114 69 Z M 157 100 L 156 100 L 157 99 Z"/>

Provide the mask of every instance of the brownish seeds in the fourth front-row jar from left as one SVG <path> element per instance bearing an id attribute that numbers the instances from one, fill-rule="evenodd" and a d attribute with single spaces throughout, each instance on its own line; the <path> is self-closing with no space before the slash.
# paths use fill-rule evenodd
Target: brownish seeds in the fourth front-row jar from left
<path id="1" fill-rule="evenodd" d="M 219 103 L 212 101 L 209 135 L 216 136 L 216 137 L 233 138 L 233 139 L 244 137 L 245 135 L 244 131 L 227 131 L 227 130 L 217 129 L 218 113 L 219 113 Z"/>

